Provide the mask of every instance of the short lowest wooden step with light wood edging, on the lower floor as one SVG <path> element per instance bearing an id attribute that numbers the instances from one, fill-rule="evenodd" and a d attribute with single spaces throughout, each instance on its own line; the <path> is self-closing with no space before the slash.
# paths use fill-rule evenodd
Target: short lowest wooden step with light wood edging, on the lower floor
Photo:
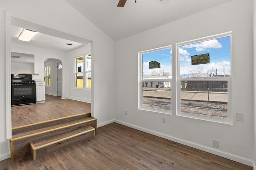
<path id="1" fill-rule="evenodd" d="M 30 153 L 33 160 L 35 160 L 39 156 L 54 152 L 67 145 L 78 143 L 79 141 L 83 141 L 90 137 L 95 137 L 95 128 L 88 126 L 75 129 L 54 137 L 44 138 L 44 140 L 30 142 Z"/>

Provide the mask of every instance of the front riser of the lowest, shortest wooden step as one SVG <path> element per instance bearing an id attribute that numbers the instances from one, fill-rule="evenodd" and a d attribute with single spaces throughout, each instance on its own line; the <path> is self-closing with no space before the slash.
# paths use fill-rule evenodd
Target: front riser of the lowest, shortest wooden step
<path id="1" fill-rule="evenodd" d="M 33 149 L 33 145 L 31 143 L 30 145 L 30 154 L 32 155 L 33 160 L 35 160 L 36 158 L 38 158 L 39 156 L 43 156 L 46 155 L 48 153 L 51 152 L 55 152 L 57 150 L 60 150 L 68 145 L 72 145 L 74 143 L 78 143 L 80 141 L 84 141 L 86 139 L 90 139 L 91 137 L 95 136 L 95 129 L 94 131 L 90 131 L 88 133 L 84 133 L 82 135 L 76 136 L 76 137 L 72 137 L 70 139 L 58 142 L 58 143 L 54 143 L 52 145 L 40 148 L 40 149 Z"/>

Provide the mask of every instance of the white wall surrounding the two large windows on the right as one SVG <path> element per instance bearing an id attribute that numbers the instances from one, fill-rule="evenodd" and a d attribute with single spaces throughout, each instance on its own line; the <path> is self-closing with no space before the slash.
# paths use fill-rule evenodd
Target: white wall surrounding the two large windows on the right
<path id="1" fill-rule="evenodd" d="M 172 45 L 175 63 L 176 43 L 228 31 L 233 31 L 233 125 L 180 117 L 175 106 L 172 115 L 138 110 L 139 51 Z M 252 166 L 252 1 L 233 0 L 115 44 L 115 119 L 119 123 Z M 174 87 L 174 69 L 172 80 Z M 236 112 L 244 113 L 244 121 L 236 121 Z M 166 123 L 162 123 L 162 116 Z M 213 139 L 220 141 L 219 148 L 212 147 Z"/>

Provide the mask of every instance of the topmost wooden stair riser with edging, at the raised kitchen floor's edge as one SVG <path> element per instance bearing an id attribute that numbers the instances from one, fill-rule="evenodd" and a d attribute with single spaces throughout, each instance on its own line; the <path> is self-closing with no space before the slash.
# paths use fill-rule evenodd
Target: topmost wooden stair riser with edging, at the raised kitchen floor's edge
<path id="1" fill-rule="evenodd" d="M 79 114 L 79 115 L 62 117 L 62 118 L 59 118 L 59 119 L 52 119 L 52 120 L 49 120 L 49 121 L 33 123 L 33 124 L 30 124 L 30 125 L 14 127 L 14 128 L 12 128 L 12 135 L 15 135 L 17 133 L 30 131 L 32 129 L 39 129 L 39 128 L 42 128 L 42 127 L 48 127 L 48 126 L 55 125 L 55 124 L 58 124 L 58 123 L 72 121 L 72 120 L 75 120 L 75 119 L 79 120 L 81 118 L 90 117 L 90 116 L 91 116 L 91 113 L 83 113 L 83 114 Z"/>

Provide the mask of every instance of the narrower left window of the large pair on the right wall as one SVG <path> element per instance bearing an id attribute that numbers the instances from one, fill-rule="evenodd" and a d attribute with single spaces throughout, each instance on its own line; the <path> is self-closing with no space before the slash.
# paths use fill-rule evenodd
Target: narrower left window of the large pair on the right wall
<path id="1" fill-rule="evenodd" d="M 139 54 L 140 109 L 171 113 L 171 46 Z"/>

